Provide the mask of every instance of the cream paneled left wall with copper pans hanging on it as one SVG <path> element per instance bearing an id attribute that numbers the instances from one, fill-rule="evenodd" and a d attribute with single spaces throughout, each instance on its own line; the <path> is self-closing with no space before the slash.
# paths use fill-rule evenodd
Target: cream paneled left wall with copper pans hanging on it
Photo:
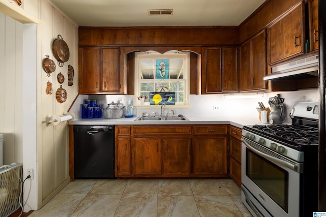
<path id="1" fill-rule="evenodd" d="M 67 123 L 55 127 L 46 123 L 46 117 L 66 113 L 78 94 L 78 26 L 48 0 L 25 0 L 18 9 L 41 21 L 22 24 L 0 13 L 0 133 L 4 163 L 23 163 L 23 178 L 26 169 L 34 170 L 34 179 L 25 182 L 24 211 L 29 211 L 41 208 L 70 181 Z M 59 34 L 70 50 L 63 67 L 51 50 Z M 42 67 L 46 54 L 57 64 L 50 77 Z M 68 65 L 75 72 L 72 86 L 67 85 Z M 68 95 L 62 104 L 56 99 L 60 72 Z M 48 81 L 52 95 L 46 94 Z"/>

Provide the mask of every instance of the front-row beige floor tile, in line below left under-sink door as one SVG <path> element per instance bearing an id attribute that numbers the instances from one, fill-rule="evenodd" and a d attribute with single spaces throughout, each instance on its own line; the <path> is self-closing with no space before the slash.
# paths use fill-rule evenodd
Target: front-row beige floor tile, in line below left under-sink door
<path id="1" fill-rule="evenodd" d="M 157 216 L 157 195 L 122 195 L 115 217 Z"/>

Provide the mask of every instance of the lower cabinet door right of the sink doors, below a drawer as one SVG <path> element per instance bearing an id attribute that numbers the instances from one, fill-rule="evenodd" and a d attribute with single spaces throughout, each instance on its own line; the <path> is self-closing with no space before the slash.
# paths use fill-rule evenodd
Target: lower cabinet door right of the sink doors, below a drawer
<path id="1" fill-rule="evenodd" d="M 226 175 L 226 138 L 195 138 L 194 140 L 194 173 Z"/>

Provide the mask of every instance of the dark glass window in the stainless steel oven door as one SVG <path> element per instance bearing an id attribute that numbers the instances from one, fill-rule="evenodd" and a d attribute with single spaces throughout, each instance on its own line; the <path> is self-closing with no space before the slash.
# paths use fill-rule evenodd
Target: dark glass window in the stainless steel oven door
<path id="1" fill-rule="evenodd" d="M 288 212 L 288 172 L 251 150 L 246 150 L 246 175 L 284 211 Z"/>

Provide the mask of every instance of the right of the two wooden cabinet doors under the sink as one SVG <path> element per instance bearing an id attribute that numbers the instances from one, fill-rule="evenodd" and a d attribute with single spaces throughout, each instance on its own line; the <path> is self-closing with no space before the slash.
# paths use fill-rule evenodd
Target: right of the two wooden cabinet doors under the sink
<path id="1" fill-rule="evenodd" d="M 190 138 L 162 139 L 163 174 L 190 174 Z"/>

